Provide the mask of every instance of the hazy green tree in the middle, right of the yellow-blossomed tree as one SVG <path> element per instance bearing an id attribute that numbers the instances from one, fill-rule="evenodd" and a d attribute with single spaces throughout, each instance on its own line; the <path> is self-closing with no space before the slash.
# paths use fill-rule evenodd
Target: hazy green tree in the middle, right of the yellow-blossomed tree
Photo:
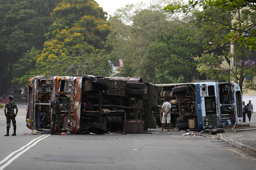
<path id="1" fill-rule="evenodd" d="M 201 54 L 203 48 L 187 39 L 193 35 L 192 25 L 159 9 L 152 10 L 154 8 L 137 8 L 130 15 L 131 8 L 133 5 L 127 5 L 109 20 L 112 30 L 108 43 L 113 49 L 112 55 L 124 61 L 121 75 L 142 76 L 157 83 L 169 81 L 158 76 L 164 72 L 165 77 L 168 74 L 175 80 L 183 77 L 180 81 L 193 75 L 194 57 Z"/>

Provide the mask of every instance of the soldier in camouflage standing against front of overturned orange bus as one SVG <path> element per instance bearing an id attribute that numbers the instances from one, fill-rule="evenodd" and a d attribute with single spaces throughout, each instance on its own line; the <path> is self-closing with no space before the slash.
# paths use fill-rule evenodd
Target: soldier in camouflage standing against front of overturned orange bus
<path id="1" fill-rule="evenodd" d="M 52 117 L 51 117 L 51 134 L 54 134 L 54 125 L 56 123 L 56 135 L 60 135 L 59 128 L 61 124 L 61 114 L 60 114 L 60 108 L 62 104 L 60 104 L 60 95 L 57 94 L 55 99 L 51 102 L 51 108 L 52 108 Z"/>

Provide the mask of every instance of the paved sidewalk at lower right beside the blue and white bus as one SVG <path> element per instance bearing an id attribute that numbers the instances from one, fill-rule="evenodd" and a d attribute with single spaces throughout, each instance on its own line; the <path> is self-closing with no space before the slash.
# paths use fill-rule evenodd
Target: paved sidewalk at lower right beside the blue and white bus
<path id="1" fill-rule="evenodd" d="M 256 122 L 246 122 L 245 124 L 250 124 L 250 127 L 245 127 L 243 129 L 256 128 Z M 230 129 L 225 129 L 225 131 L 226 133 L 224 134 L 218 134 L 219 139 L 256 157 L 256 130 L 233 132 L 230 131 Z"/>

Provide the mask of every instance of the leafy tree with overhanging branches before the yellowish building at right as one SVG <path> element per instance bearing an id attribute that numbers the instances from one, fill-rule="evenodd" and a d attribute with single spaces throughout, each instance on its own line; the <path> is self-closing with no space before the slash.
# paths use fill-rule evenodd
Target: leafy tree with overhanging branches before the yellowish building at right
<path id="1" fill-rule="evenodd" d="M 204 11 L 200 12 L 198 10 L 193 10 L 197 6 L 203 7 Z M 255 1 L 251 0 L 191 0 L 188 4 L 169 4 L 163 8 L 163 10 L 172 13 L 188 13 L 192 11 L 203 20 L 211 22 L 211 26 L 204 25 L 204 27 L 208 27 L 209 29 L 212 28 L 212 30 L 221 33 L 222 36 L 224 35 L 223 39 L 221 39 L 221 36 L 219 36 L 221 34 L 217 34 L 217 39 L 215 39 L 215 42 L 218 42 L 221 47 L 225 44 L 234 44 L 235 59 L 233 66 L 236 67 L 230 67 L 227 71 L 230 71 L 230 80 L 238 83 L 241 89 L 245 81 L 245 76 L 248 75 L 248 73 L 251 74 L 251 76 L 254 74 L 254 67 L 248 68 L 245 66 L 245 58 L 249 58 L 246 48 L 248 48 L 249 51 L 253 51 L 256 48 L 255 9 Z M 221 13 L 219 17 L 216 17 L 216 13 L 212 13 L 212 11 L 216 12 L 217 10 Z M 226 14 L 226 16 L 223 14 Z M 208 58 L 209 60 L 214 61 L 212 64 L 216 66 L 216 60 L 210 59 L 211 56 L 214 57 L 214 55 L 206 55 L 201 61 L 205 62 L 205 59 Z M 229 56 L 230 55 L 224 56 L 227 61 L 229 61 Z M 239 64 L 237 64 L 237 56 L 241 59 L 241 63 Z M 222 59 L 219 58 L 217 60 Z M 203 69 L 201 69 L 202 72 L 208 71 L 208 64 L 201 64 L 201 67 L 203 67 Z M 211 71 L 213 68 L 210 68 L 208 75 L 212 75 L 214 72 L 219 72 L 218 67 L 215 67 L 216 69 L 213 72 Z M 221 75 L 221 77 L 223 78 L 225 75 Z"/>

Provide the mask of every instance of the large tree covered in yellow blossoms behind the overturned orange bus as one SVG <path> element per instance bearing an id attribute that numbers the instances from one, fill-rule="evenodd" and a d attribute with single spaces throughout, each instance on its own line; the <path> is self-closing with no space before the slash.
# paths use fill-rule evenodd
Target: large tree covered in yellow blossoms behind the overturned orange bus
<path id="1" fill-rule="evenodd" d="M 34 75 L 108 76 L 111 67 L 104 41 L 110 27 L 103 9 L 93 0 L 63 0 L 51 15 L 49 40 Z"/>

